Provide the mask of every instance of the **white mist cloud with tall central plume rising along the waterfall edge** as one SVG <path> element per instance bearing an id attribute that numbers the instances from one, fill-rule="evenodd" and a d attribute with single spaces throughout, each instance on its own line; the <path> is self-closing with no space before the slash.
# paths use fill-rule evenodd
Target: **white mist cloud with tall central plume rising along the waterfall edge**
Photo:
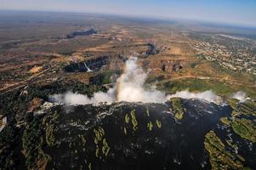
<path id="1" fill-rule="evenodd" d="M 186 90 L 167 96 L 155 88 L 145 88 L 148 74 L 137 65 L 137 60 L 137 58 L 130 57 L 126 61 L 123 74 L 117 79 L 114 88 L 110 88 L 107 93 L 98 92 L 92 98 L 88 98 L 86 95 L 67 92 L 65 94 L 55 94 L 51 97 L 51 100 L 71 105 L 110 103 L 113 101 L 163 103 L 174 97 L 204 99 L 214 103 L 218 103 L 220 100 L 220 97 L 213 94 L 212 91 L 194 94 Z"/>

